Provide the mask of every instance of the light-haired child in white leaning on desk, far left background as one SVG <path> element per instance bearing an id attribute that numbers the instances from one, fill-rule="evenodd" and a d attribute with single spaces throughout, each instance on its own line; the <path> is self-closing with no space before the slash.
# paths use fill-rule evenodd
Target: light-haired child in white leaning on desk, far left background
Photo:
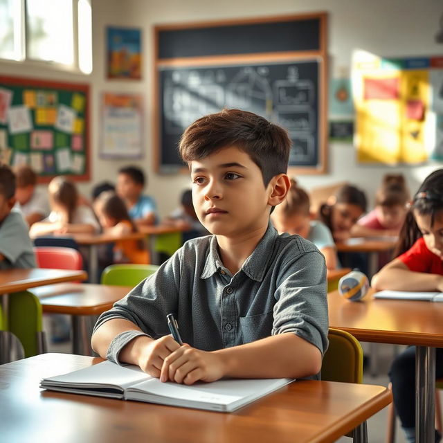
<path id="1" fill-rule="evenodd" d="M 93 210 L 79 204 L 79 195 L 75 184 L 66 177 L 59 176 L 51 180 L 48 186 L 51 214 L 30 228 L 31 237 L 51 233 L 98 233 L 100 224 Z"/>

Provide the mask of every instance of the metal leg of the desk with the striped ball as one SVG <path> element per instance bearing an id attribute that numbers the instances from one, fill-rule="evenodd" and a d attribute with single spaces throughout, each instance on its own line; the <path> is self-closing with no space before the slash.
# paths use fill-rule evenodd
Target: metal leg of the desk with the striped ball
<path id="1" fill-rule="evenodd" d="M 435 422 L 435 347 L 415 351 L 415 440 L 433 443 Z"/>

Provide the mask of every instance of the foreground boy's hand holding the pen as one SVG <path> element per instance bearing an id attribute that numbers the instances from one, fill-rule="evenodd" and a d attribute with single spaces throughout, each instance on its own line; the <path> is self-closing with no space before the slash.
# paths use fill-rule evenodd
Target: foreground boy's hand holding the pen
<path id="1" fill-rule="evenodd" d="M 141 348 L 137 364 L 143 372 L 159 378 L 165 359 L 179 347 L 179 343 L 170 335 L 152 340 Z"/>

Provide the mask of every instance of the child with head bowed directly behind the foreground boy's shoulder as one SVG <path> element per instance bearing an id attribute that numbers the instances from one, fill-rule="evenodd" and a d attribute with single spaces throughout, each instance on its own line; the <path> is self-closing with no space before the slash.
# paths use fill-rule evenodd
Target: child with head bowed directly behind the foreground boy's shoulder
<path id="1" fill-rule="evenodd" d="M 298 234 L 314 243 L 325 256 L 327 269 L 336 269 L 337 253 L 331 231 L 321 221 L 311 220 L 309 207 L 309 195 L 291 179 L 286 200 L 271 215 L 273 225 L 280 234 Z"/>

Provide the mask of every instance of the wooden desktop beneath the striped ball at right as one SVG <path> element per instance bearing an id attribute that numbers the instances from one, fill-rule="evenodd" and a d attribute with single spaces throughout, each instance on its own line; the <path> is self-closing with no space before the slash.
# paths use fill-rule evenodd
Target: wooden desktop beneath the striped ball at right
<path id="1" fill-rule="evenodd" d="M 372 298 L 361 302 L 328 293 L 329 327 L 350 332 L 361 341 L 443 347 L 443 304 Z"/>

